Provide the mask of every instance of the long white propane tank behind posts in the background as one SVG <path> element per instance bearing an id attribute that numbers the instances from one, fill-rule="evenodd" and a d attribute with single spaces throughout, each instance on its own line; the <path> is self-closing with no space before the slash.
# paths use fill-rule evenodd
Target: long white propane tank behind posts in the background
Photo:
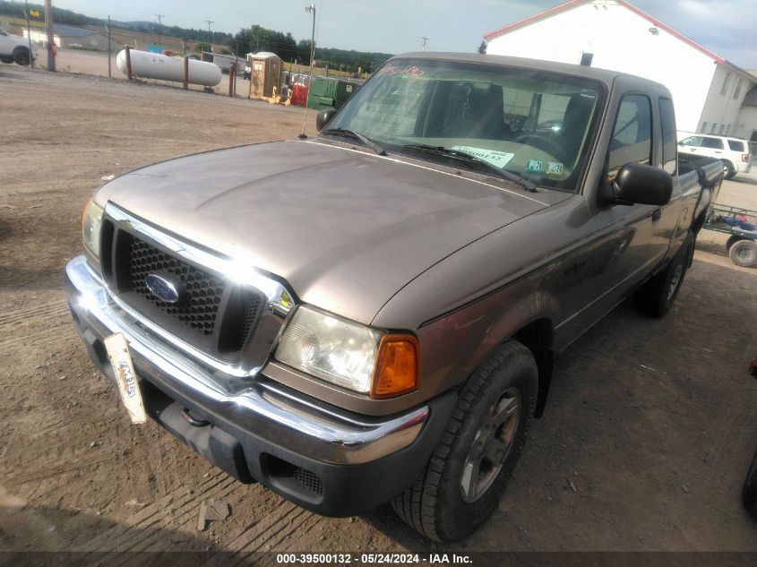
<path id="1" fill-rule="evenodd" d="M 148 51 L 129 50 L 132 60 L 132 74 L 142 79 L 160 79 L 162 81 L 184 82 L 184 59 L 182 57 L 163 56 Z M 122 49 L 116 56 L 116 66 L 121 73 L 126 73 L 126 50 Z M 214 87 L 221 80 L 217 64 L 205 61 L 189 60 L 189 83 Z"/>

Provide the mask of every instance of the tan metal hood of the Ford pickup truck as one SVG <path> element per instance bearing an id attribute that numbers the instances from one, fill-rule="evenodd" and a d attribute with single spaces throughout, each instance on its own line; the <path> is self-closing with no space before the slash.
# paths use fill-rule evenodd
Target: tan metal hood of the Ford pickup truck
<path id="1" fill-rule="evenodd" d="M 305 303 L 369 323 L 435 263 L 548 202 L 422 163 L 271 142 L 137 169 L 96 200 L 286 279 Z"/>

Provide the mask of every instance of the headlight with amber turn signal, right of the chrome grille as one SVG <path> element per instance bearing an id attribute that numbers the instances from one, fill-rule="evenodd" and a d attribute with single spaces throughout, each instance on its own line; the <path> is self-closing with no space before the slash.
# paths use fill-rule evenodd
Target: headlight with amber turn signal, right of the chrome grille
<path id="1" fill-rule="evenodd" d="M 416 387 L 417 340 L 297 308 L 276 349 L 276 359 L 326 382 L 372 396 Z"/>

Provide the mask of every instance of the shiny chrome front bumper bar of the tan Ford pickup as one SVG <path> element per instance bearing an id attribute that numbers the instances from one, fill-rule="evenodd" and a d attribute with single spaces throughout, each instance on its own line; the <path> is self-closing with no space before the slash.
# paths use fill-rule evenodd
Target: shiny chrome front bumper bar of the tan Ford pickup
<path id="1" fill-rule="evenodd" d="M 427 406 L 399 416 L 364 417 L 273 382 L 264 369 L 254 378 L 221 374 L 187 357 L 116 305 L 84 256 L 69 262 L 65 272 L 69 304 L 85 342 L 87 333 L 94 335 L 91 341 L 123 333 L 142 379 L 151 382 L 153 377 L 158 385 L 194 400 L 221 424 L 233 420 L 235 429 L 257 439 L 306 459 L 341 465 L 368 463 L 409 447 L 426 425 Z"/>

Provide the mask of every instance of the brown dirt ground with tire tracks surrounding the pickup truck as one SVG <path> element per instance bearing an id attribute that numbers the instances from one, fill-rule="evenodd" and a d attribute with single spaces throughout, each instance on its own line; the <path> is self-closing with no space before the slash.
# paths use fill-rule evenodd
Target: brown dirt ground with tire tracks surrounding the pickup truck
<path id="1" fill-rule="evenodd" d="M 102 176 L 293 137 L 300 110 L 0 65 L 0 117 L 0 550 L 757 552 L 739 500 L 757 450 L 757 270 L 713 253 L 717 238 L 667 318 L 622 305 L 568 349 L 499 511 L 437 546 L 389 507 L 323 518 L 131 425 L 66 310 Z M 757 176 L 721 197 L 757 209 Z M 200 532 L 209 496 L 232 514 Z"/>

